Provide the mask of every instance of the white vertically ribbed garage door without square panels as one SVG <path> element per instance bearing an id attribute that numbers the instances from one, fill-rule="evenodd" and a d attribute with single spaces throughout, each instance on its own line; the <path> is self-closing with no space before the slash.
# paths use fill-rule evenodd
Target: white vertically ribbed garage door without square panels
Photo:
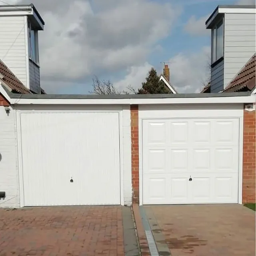
<path id="1" fill-rule="evenodd" d="M 25 206 L 120 204 L 118 112 L 21 113 Z"/>

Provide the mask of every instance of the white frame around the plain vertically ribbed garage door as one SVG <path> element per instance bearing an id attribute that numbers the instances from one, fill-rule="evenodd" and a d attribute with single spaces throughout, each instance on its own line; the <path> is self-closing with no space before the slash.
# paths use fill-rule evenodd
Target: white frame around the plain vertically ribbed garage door
<path id="1" fill-rule="evenodd" d="M 91 107 L 86 110 L 16 110 L 16 128 L 17 128 L 17 151 L 18 151 L 18 175 L 20 190 L 20 207 L 24 207 L 24 185 L 23 185 L 23 168 L 22 168 L 22 137 L 20 114 L 21 113 L 118 113 L 119 115 L 119 152 L 120 152 L 120 204 L 124 205 L 124 155 L 123 155 L 123 117 L 122 108 L 114 107 L 109 110 L 101 110 L 102 107 Z M 128 166 L 129 167 L 129 166 Z"/>

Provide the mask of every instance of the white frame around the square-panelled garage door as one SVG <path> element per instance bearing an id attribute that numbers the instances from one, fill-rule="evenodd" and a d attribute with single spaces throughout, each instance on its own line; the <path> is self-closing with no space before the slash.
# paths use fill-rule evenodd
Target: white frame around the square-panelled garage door
<path id="1" fill-rule="evenodd" d="M 242 181 L 243 181 L 243 131 L 244 131 L 244 110 L 243 105 L 238 106 L 234 111 L 230 112 L 229 108 L 227 108 L 222 115 L 218 116 L 209 115 L 209 116 L 196 116 L 194 114 L 187 113 L 187 115 L 179 116 L 176 114 L 172 116 L 171 111 L 174 110 L 176 107 L 168 106 L 169 109 L 166 107 L 159 106 L 158 108 L 152 109 L 149 106 L 139 106 L 138 111 L 138 128 L 139 128 L 139 205 L 143 205 L 143 165 L 142 165 L 142 121 L 143 120 L 156 120 L 156 119 L 184 119 L 184 118 L 238 118 L 239 120 L 239 146 L 238 146 L 238 204 L 242 204 Z M 211 108 L 211 107 L 210 107 Z M 207 108 L 206 108 L 207 109 Z M 142 111 L 140 111 L 142 110 Z M 148 112 L 151 110 L 151 112 Z M 164 110 L 165 113 L 161 116 L 161 110 Z M 166 113 L 166 110 L 168 111 Z M 177 112 L 182 111 L 181 109 L 177 109 Z M 218 108 L 217 108 L 218 111 Z"/>

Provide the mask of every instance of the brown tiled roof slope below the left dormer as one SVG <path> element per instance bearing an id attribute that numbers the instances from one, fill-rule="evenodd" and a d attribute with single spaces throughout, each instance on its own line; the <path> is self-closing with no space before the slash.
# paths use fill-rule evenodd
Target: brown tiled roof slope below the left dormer
<path id="1" fill-rule="evenodd" d="M 22 82 L 12 73 L 12 71 L 0 59 L 0 74 L 4 77 L 2 80 L 12 89 L 13 92 L 29 94 L 31 93 Z"/>

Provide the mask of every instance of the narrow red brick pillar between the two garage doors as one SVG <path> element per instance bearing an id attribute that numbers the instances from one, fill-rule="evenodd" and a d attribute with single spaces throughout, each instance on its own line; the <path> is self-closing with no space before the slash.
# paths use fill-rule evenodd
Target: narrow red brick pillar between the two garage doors
<path id="1" fill-rule="evenodd" d="M 131 105 L 132 202 L 139 202 L 139 120 L 138 105 Z"/>

